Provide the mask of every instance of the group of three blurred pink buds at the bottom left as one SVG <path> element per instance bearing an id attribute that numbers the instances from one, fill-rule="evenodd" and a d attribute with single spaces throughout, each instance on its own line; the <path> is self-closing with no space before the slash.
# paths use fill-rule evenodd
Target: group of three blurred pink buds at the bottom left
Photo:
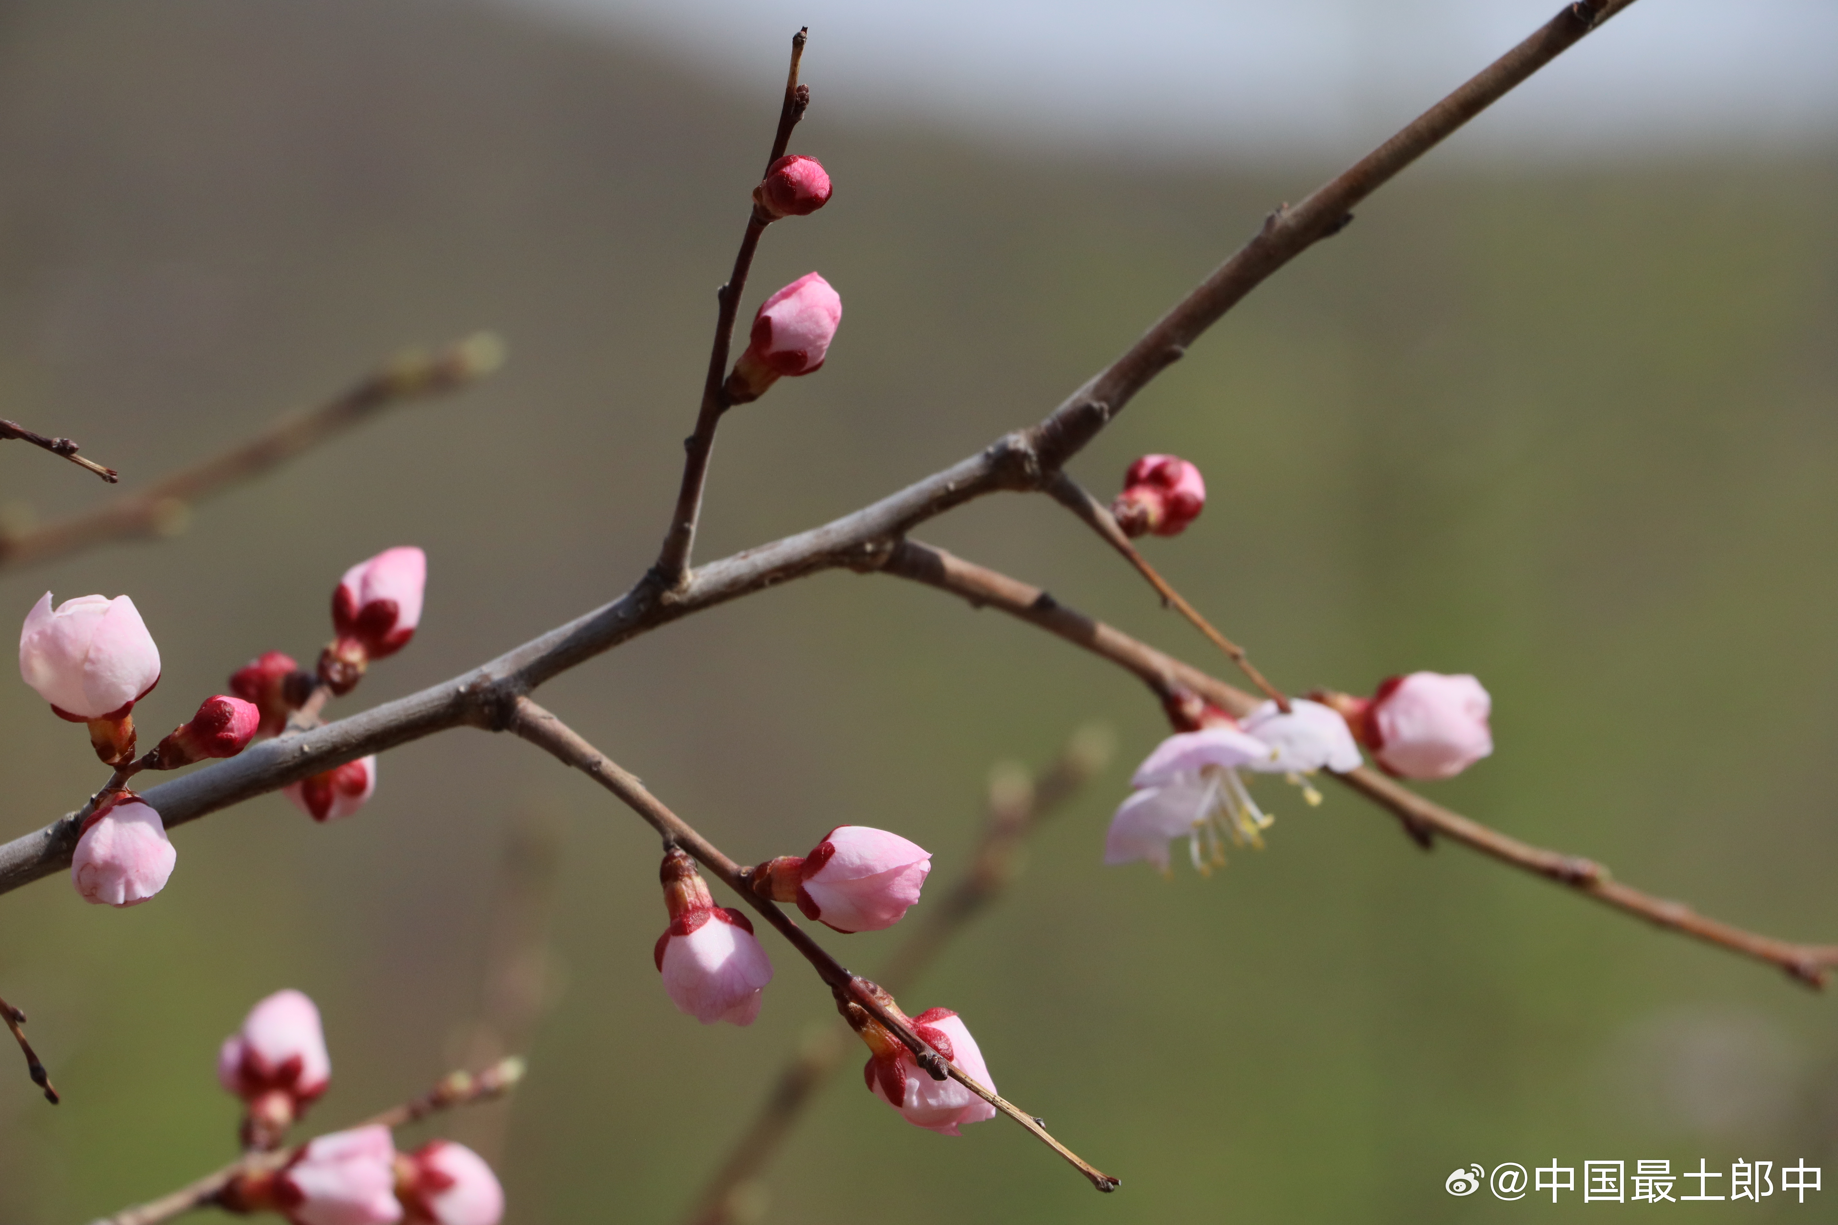
<path id="1" fill-rule="evenodd" d="M 217 1078 L 246 1106 L 244 1148 L 279 1148 L 331 1084 L 318 1008 L 294 990 L 263 999 L 224 1040 Z M 219 1199 L 294 1225 L 498 1225 L 504 1216 L 504 1188 L 478 1153 L 452 1141 L 399 1153 L 384 1126 L 322 1135 L 279 1168 L 237 1175 Z"/>

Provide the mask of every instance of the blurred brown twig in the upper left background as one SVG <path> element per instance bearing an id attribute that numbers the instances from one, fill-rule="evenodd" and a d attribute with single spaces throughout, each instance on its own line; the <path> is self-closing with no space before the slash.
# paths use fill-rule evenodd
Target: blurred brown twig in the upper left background
<path id="1" fill-rule="evenodd" d="M 404 353 L 338 399 L 289 413 L 246 443 L 213 455 L 107 507 L 28 531 L 0 534 L 0 568 L 46 562 L 123 536 L 182 531 L 191 507 L 279 466 L 380 410 L 463 388 L 498 369 L 504 343 L 478 332 L 436 354 Z"/>

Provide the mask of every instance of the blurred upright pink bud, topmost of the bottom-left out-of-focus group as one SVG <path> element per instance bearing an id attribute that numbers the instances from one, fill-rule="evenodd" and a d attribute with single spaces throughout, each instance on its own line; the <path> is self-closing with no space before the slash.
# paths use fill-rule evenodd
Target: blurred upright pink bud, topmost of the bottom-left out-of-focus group
<path id="1" fill-rule="evenodd" d="M 217 1080 L 248 1104 L 243 1144 L 270 1148 L 331 1084 L 320 1010 L 289 988 L 268 995 L 217 1052 Z"/>

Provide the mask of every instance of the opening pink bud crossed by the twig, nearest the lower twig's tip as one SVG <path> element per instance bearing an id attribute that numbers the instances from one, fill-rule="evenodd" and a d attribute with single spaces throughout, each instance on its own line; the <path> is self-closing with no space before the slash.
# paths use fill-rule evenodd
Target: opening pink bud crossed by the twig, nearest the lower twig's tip
<path id="1" fill-rule="evenodd" d="M 893 995 L 873 983 L 860 981 L 875 1001 L 906 1028 L 917 1034 L 926 1045 L 937 1051 L 945 1062 L 956 1063 L 980 1085 L 996 1091 L 996 1082 L 989 1076 L 983 1052 L 970 1038 L 969 1027 L 950 1008 L 926 1008 L 915 1017 L 901 1012 Z M 919 1060 L 893 1030 L 875 1019 L 875 1016 L 855 1001 L 842 1001 L 844 1019 L 868 1043 L 868 1063 L 862 1065 L 862 1078 L 868 1091 L 891 1106 L 915 1128 L 926 1128 L 939 1135 L 959 1135 L 958 1128 L 967 1122 L 985 1122 L 996 1117 L 996 1107 L 956 1080 L 934 1078 L 919 1067 Z M 943 1071 L 943 1069 L 939 1069 Z"/>

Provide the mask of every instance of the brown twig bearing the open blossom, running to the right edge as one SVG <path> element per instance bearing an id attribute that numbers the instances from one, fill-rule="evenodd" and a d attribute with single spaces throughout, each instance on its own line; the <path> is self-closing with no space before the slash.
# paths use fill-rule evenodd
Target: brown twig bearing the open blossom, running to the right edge
<path id="1" fill-rule="evenodd" d="M 908 540 L 888 560 L 886 573 L 950 591 L 978 608 L 1000 608 L 1029 624 L 1049 630 L 1068 643 L 1129 669 L 1158 698 L 1197 692 L 1231 714 L 1246 714 L 1257 705 L 1257 700 L 1242 689 L 1226 685 L 1173 656 L 1162 654 L 1095 617 L 1066 608 L 1040 588 L 952 556 L 945 549 Z M 1823 986 L 1825 972 L 1838 966 L 1838 946 L 1834 944 L 1794 944 L 1706 918 L 1682 902 L 1656 898 L 1610 880 L 1608 869 L 1599 863 L 1522 843 L 1480 821 L 1450 812 L 1366 766 L 1333 777 L 1390 810 L 1401 821 L 1430 828 L 1502 863 L 1553 880 L 1658 927 L 1764 961 L 1809 986 Z"/>

